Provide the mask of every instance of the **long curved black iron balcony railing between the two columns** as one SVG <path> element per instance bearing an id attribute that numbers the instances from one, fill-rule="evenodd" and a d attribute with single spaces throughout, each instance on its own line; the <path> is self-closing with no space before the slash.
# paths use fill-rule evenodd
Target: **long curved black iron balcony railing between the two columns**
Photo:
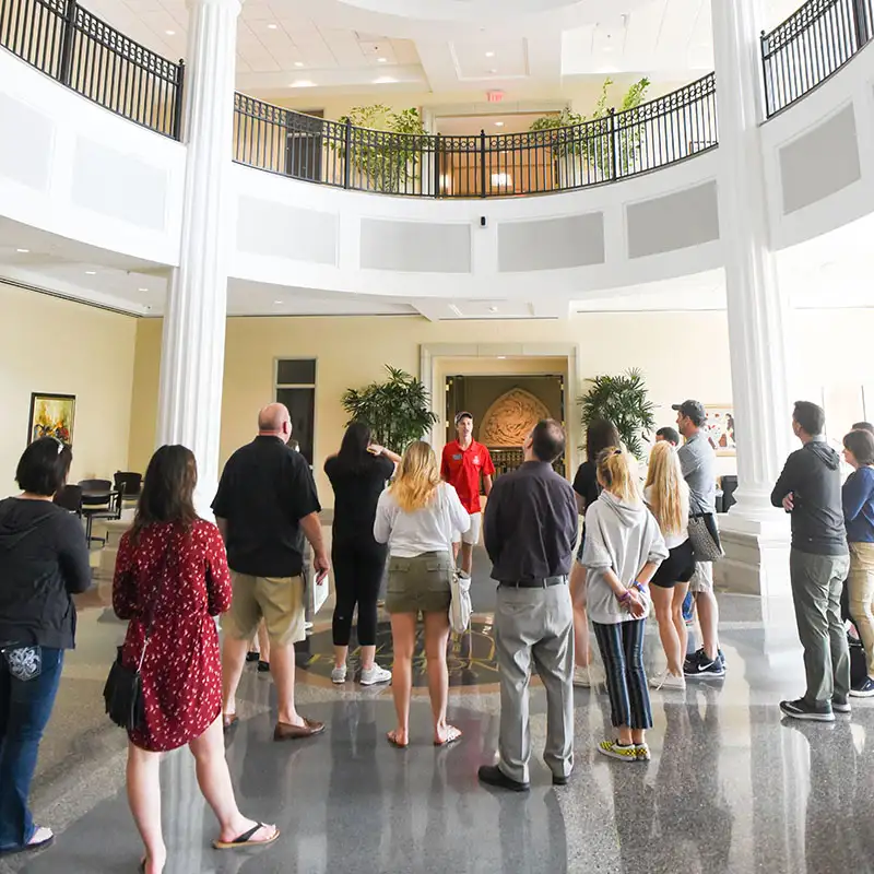
<path id="1" fill-rule="evenodd" d="M 717 145 L 712 74 L 635 109 L 566 128 L 441 137 L 357 128 L 237 94 L 240 164 L 321 185 L 432 198 L 568 191 Z"/>

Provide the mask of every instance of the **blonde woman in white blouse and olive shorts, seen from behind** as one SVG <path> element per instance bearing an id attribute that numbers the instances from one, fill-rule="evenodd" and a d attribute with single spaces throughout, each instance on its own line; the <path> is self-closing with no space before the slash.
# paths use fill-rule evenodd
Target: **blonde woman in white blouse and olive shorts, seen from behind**
<path id="1" fill-rule="evenodd" d="M 428 692 L 434 713 L 434 745 L 445 746 L 461 737 L 447 724 L 449 672 L 449 603 L 454 572 L 453 532 L 464 533 L 470 515 L 456 489 L 440 482 L 437 457 L 428 444 L 417 440 L 403 453 L 394 483 L 382 493 L 376 510 L 374 538 L 389 544 L 389 579 L 386 610 L 391 614 L 394 647 L 391 690 L 398 728 L 388 733 L 393 746 L 410 743 L 410 696 L 413 686 L 413 649 L 416 622 L 425 619 L 425 658 Z"/>

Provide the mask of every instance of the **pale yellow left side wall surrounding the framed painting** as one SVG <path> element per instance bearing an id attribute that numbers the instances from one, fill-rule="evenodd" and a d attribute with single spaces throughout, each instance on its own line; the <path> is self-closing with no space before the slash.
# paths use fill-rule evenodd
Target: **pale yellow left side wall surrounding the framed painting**
<path id="1" fill-rule="evenodd" d="M 137 319 L 0 283 L 0 495 L 15 466 L 31 392 L 75 394 L 71 482 L 127 470 Z"/>

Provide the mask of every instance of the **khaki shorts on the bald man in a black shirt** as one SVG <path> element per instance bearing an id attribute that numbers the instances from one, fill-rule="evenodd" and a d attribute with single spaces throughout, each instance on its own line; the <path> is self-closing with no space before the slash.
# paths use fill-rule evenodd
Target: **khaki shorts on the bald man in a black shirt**
<path id="1" fill-rule="evenodd" d="M 261 618 L 271 643 L 285 647 L 306 639 L 303 577 L 251 577 L 231 571 L 234 598 L 222 629 L 236 640 L 250 640 Z"/>

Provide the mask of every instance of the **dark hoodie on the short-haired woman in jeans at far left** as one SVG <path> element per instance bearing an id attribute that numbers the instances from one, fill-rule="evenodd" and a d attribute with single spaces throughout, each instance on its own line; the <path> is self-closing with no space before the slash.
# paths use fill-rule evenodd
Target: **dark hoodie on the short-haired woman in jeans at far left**
<path id="1" fill-rule="evenodd" d="M 47 500 L 0 500 L 0 645 L 72 649 L 71 594 L 91 586 L 81 521 Z"/>

